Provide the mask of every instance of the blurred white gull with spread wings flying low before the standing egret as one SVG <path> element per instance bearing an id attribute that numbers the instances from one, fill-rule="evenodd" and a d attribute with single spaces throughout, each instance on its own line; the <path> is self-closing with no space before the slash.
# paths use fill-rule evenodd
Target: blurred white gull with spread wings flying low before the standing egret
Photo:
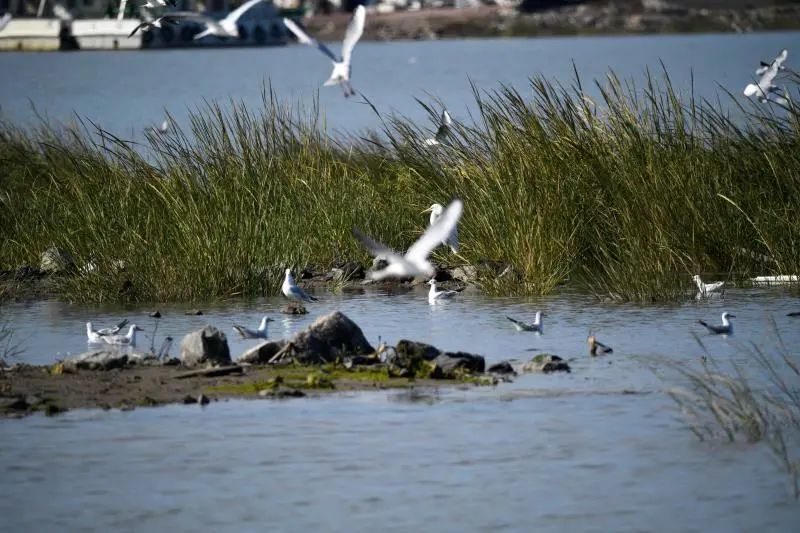
<path id="1" fill-rule="evenodd" d="M 425 233 L 411 245 L 405 255 L 400 255 L 388 246 L 367 237 L 357 228 L 353 228 L 353 235 L 361 241 L 374 256 L 383 257 L 389 265 L 383 270 L 370 273 L 373 280 L 384 278 L 414 278 L 424 276 L 430 278 L 434 274 L 433 265 L 428 261 L 428 256 L 434 248 L 445 241 L 458 224 L 464 204 L 461 200 L 453 200 L 442 216 L 425 230 Z"/>

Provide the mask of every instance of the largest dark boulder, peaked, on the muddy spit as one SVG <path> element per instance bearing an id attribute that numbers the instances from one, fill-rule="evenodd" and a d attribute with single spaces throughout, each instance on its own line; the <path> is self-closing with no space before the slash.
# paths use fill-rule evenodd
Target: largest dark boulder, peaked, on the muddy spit
<path id="1" fill-rule="evenodd" d="M 330 363 L 339 357 L 375 351 L 361 328 L 339 311 L 315 320 L 295 335 L 292 344 L 294 359 L 302 364 Z"/>

